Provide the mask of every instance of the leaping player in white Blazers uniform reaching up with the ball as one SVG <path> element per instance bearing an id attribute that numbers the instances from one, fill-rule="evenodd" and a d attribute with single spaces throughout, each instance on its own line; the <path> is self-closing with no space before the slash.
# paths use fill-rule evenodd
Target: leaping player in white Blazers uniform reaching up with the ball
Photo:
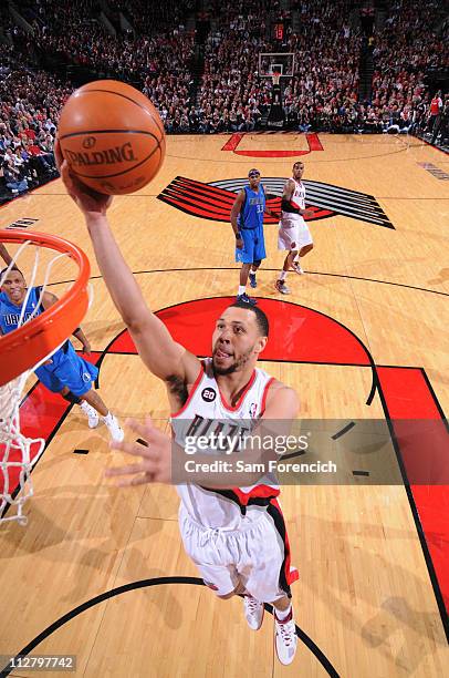
<path id="1" fill-rule="evenodd" d="M 117 247 L 106 218 L 112 198 L 83 187 L 70 174 L 58 143 L 55 153 L 67 192 L 85 217 L 115 307 L 144 364 L 167 387 L 176 441 L 182 446 L 187 418 L 194 427 L 205 419 L 238 423 L 251 418 L 261 425 L 271 420 L 295 419 L 299 410 L 295 391 L 255 369 L 268 341 L 265 315 L 242 302 L 226 308 L 213 331 L 212 358 L 202 362 L 174 341 L 161 320 L 148 309 Z M 114 449 L 142 461 L 112 469 L 107 474 L 130 476 L 122 485 L 170 483 L 173 439 L 155 429 L 150 420 L 129 425 L 148 448 L 128 442 L 114 444 Z M 205 583 L 219 597 L 243 596 L 250 628 L 260 628 L 263 603 L 273 605 L 278 657 L 282 664 L 291 664 L 297 637 L 290 584 L 297 573 L 290 567 L 285 524 L 276 502 L 279 487 L 257 482 L 236 487 L 220 480 L 219 487 L 212 476 L 208 486 L 177 485 L 185 548 Z"/>

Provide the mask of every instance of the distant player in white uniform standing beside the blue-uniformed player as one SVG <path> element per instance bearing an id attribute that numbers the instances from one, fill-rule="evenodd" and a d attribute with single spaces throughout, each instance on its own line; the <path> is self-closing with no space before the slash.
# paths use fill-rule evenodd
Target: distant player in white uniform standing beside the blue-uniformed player
<path id="1" fill-rule="evenodd" d="M 281 203 L 281 220 L 279 223 L 278 249 L 286 250 L 283 269 L 275 281 L 275 288 L 282 295 L 290 295 L 285 284 L 286 274 L 292 268 L 299 275 L 304 271 L 301 268 L 301 257 L 313 249 L 313 240 L 309 226 L 303 216 L 312 216 L 312 209 L 305 209 L 305 187 L 302 183 L 304 163 L 297 162 L 293 165 L 293 176 L 285 182 Z M 295 261 L 296 255 L 299 260 Z"/>

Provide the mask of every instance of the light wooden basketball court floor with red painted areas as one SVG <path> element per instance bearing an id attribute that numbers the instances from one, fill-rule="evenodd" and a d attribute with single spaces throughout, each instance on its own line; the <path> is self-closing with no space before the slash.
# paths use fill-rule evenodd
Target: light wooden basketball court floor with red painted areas
<path id="1" fill-rule="evenodd" d="M 299 157 L 316 213 L 315 248 L 306 275 L 291 274 L 292 294 L 281 297 L 274 280 L 283 255 L 275 225 L 265 226 L 268 258 L 254 292 L 273 331 L 261 367 L 297 389 L 302 419 L 344 425 L 389 417 L 385 463 L 397 477 L 395 421 L 442 425 L 449 411 L 449 183 L 439 178 L 449 173 L 447 155 L 390 135 L 169 137 L 156 179 L 115 198 L 109 218 L 150 308 L 206 355 L 208 319 L 237 292 L 227 220 L 233 192 L 258 167 L 275 201 Z M 121 419 L 150 413 L 166 429 L 164 388 L 143 371 L 61 182 L 4 206 L 0 227 L 14 224 L 85 249 L 93 301 L 83 329 L 101 361 L 100 392 Z M 21 267 L 30 266 L 25 254 Z M 52 291 L 72 278 L 60 261 Z M 103 473 L 119 459 L 104 428 L 90 431 L 34 382 L 22 425 L 44 428 L 48 445 L 32 474 L 28 525 L 0 526 L 0 655 L 76 655 L 67 675 L 88 678 L 448 675 L 447 487 L 415 485 L 407 464 L 400 482 L 366 484 L 354 470 L 374 481 L 382 473 L 376 454 L 359 450 L 338 484 L 283 487 L 300 571 L 292 587 L 300 644 L 293 665 L 282 667 L 271 615 L 254 634 L 240 599 L 218 600 L 200 585 L 181 547 L 175 490 L 112 486 Z"/>

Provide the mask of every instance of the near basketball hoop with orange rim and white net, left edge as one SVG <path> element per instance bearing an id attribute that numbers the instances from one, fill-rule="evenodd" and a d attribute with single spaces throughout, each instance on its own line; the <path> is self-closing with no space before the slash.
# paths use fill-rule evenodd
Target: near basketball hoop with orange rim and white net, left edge
<path id="1" fill-rule="evenodd" d="M 70 337 L 80 325 L 88 308 L 88 278 L 91 267 L 86 255 L 76 245 L 58 236 L 27 230 L 0 230 L 0 243 L 20 245 L 12 263 L 0 279 L 0 287 L 23 250 L 36 246 L 34 266 L 18 329 L 0 336 L 0 522 L 19 521 L 27 523 L 22 513 L 23 503 L 32 495 L 30 473 L 33 464 L 42 454 L 45 441 L 30 439 L 20 430 L 20 399 L 30 372 L 40 367 Z M 49 282 L 54 263 L 61 257 L 70 257 L 79 266 L 77 279 L 48 310 L 39 316 L 24 318 L 24 309 L 34 285 L 40 248 L 56 250 L 46 265 L 44 281 L 41 286 L 40 301 Z M 32 451 L 32 453 L 31 453 Z M 29 481 L 29 482 L 28 482 Z M 17 514 L 3 517 L 11 505 Z"/>

